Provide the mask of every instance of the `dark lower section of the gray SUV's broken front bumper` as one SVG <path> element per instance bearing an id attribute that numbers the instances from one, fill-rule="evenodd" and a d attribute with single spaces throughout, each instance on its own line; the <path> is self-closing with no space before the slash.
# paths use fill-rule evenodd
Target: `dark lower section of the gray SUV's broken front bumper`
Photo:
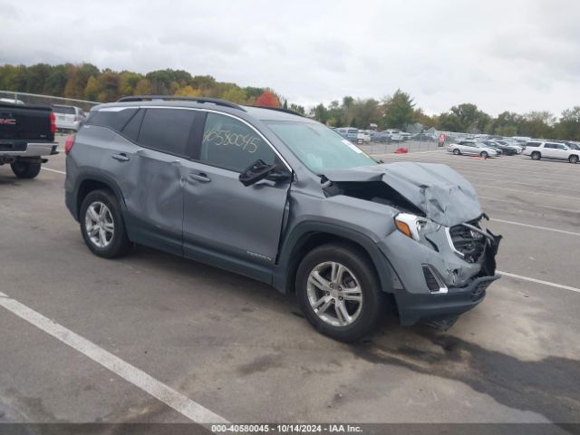
<path id="1" fill-rule="evenodd" d="M 478 305 L 486 296 L 488 286 L 499 275 L 481 276 L 463 287 L 449 288 L 447 294 L 411 294 L 405 290 L 395 292 L 401 324 L 446 320 L 457 317 Z"/>

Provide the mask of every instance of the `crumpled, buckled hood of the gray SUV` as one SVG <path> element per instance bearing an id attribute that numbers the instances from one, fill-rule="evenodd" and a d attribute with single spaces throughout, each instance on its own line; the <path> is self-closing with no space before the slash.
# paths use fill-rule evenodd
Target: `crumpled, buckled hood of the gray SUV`
<path id="1" fill-rule="evenodd" d="M 410 161 L 330 169 L 324 177 L 333 182 L 383 181 L 399 192 L 427 218 L 452 227 L 483 213 L 471 183 L 447 165 Z"/>

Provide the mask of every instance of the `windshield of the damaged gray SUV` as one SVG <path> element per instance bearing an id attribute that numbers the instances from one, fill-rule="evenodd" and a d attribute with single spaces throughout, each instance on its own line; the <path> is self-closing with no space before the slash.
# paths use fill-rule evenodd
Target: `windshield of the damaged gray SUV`
<path id="1" fill-rule="evenodd" d="M 350 169 L 376 165 L 349 140 L 322 124 L 301 121 L 266 121 L 267 126 L 316 174 L 324 169 Z"/>

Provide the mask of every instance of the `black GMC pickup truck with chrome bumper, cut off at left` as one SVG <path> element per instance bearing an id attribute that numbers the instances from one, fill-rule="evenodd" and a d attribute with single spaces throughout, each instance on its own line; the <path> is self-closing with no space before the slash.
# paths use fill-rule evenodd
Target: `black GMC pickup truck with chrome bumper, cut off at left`
<path id="1" fill-rule="evenodd" d="M 46 156 L 58 154 L 53 109 L 0 102 L 0 165 L 19 179 L 34 179 Z"/>

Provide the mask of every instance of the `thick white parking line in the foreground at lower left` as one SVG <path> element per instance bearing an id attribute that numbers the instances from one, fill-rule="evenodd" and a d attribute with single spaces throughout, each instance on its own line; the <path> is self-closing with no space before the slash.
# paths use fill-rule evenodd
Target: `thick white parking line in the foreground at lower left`
<path id="1" fill-rule="evenodd" d="M 151 396 L 178 411 L 189 420 L 200 424 L 228 422 L 218 414 L 209 411 L 168 385 L 154 379 L 146 372 L 142 372 L 129 362 L 124 362 L 118 356 L 105 351 L 95 343 L 88 341 L 77 333 L 73 333 L 73 331 L 61 324 L 53 322 L 51 319 L 44 317 L 43 314 L 35 312 L 32 308 L 19 303 L 10 296 L 0 294 L 0 306 L 4 306 L 6 310 L 16 314 L 26 322 L 34 324 L 43 332 L 53 335 L 57 340 L 88 356 L 92 361 L 101 364 L 125 381 L 131 382 L 141 390 L 148 392 Z"/>

